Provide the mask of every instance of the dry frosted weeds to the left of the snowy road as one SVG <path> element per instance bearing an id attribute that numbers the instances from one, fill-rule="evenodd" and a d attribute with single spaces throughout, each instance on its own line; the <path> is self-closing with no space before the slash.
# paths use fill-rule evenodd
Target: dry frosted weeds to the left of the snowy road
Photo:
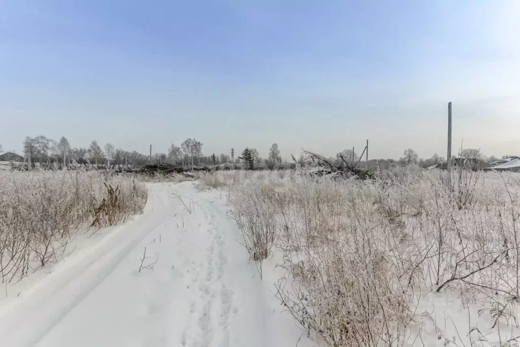
<path id="1" fill-rule="evenodd" d="M 11 282 L 57 259 L 82 225 L 108 226 L 142 212 L 144 184 L 105 172 L 0 173 L 0 275 Z M 36 266 L 32 266 L 36 261 Z"/>

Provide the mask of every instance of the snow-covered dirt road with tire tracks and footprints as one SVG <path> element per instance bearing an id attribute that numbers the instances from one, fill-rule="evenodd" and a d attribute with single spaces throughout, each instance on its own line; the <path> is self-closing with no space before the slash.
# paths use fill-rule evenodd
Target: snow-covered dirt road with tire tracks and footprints
<path id="1" fill-rule="evenodd" d="M 219 192 L 150 185 L 142 215 L 2 288 L 0 345 L 314 345 L 238 240 Z"/>

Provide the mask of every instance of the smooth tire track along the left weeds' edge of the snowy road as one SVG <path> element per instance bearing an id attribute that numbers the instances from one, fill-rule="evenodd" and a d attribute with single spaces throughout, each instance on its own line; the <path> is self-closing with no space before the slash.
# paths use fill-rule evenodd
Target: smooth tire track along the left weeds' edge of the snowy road
<path id="1" fill-rule="evenodd" d="M 158 206 L 155 203 L 159 203 Z M 8 320 L 0 329 L 6 345 L 34 346 L 52 331 L 69 313 L 80 305 L 102 282 L 110 276 L 116 267 L 131 253 L 147 235 L 161 226 L 168 218 L 164 196 L 158 194 L 155 203 L 145 207 L 145 215 L 138 218 L 131 224 L 118 227 L 119 230 L 106 236 L 97 248 L 93 248 L 93 254 L 85 254 L 84 258 L 77 259 L 75 263 L 69 265 L 63 273 L 54 273 L 36 287 L 40 292 L 30 290 L 24 293 L 29 297 L 25 302 L 20 302 L 15 316 Z M 160 218 L 157 219 L 157 214 Z M 153 221 L 153 223 L 149 223 Z M 152 227 L 146 227 L 152 224 Z M 129 235 L 123 234 L 131 228 Z M 131 238 L 128 240 L 128 236 Z M 57 286 L 52 282 L 53 278 L 58 278 L 63 284 Z M 60 298 L 71 298 L 63 302 Z M 54 304 L 53 304 L 54 303 Z M 38 307 L 38 310 L 34 310 Z M 29 314 L 24 312 L 36 312 Z M 3 311 L 2 315 L 8 315 L 8 310 Z M 43 317 L 45 317 L 43 319 Z M 4 317 L 2 317 L 4 318 Z M 31 326 L 33 333 L 24 333 L 23 327 Z M 20 330 L 21 329 L 21 330 Z M 11 342 L 12 340 L 12 342 Z M 16 341 L 16 342 L 15 342 Z"/>

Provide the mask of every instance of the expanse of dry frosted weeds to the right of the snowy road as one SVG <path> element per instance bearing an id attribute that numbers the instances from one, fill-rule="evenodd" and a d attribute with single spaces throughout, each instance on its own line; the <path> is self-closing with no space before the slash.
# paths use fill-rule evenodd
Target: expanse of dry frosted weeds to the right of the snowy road
<path id="1" fill-rule="evenodd" d="M 409 344 L 435 314 L 418 313 L 422 296 L 443 292 L 478 302 L 487 345 L 501 344 L 510 338 L 497 329 L 516 326 L 520 298 L 520 184 L 496 173 L 447 181 L 410 166 L 373 181 L 240 176 L 227 189 L 259 271 L 283 254 L 277 295 L 309 335 L 330 346 Z M 464 324 L 462 344 L 483 345 Z"/>

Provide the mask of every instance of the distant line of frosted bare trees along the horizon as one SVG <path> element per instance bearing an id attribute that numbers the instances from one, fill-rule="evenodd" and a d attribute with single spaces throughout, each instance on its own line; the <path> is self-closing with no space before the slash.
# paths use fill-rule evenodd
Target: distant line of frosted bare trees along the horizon
<path id="1" fill-rule="evenodd" d="M 44 135 L 36 137 L 25 137 L 23 141 L 23 153 L 25 158 L 31 158 L 33 163 L 66 163 L 70 164 L 76 162 L 79 164 L 115 164 L 115 165 L 140 165 L 145 163 L 174 163 L 180 165 L 216 165 L 226 163 L 244 163 L 249 166 L 250 160 L 241 159 L 239 153 L 243 153 L 247 149 L 252 156 L 253 164 L 266 164 L 269 168 L 276 164 L 287 162 L 282 159 L 280 148 L 277 143 L 272 144 L 267 153 L 267 158 L 262 158 L 256 148 L 246 146 L 244 149 L 236 150 L 236 157 L 232 160 L 227 153 L 209 153 L 205 155 L 202 151 L 203 143 L 195 138 L 187 138 L 177 146 L 172 144 L 166 152 L 154 152 L 150 156 L 149 153 L 143 154 L 136 150 L 128 151 L 122 148 L 116 148 L 114 145 L 107 143 L 101 145 L 97 140 L 93 140 L 87 147 L 72 147 L 66 136 L 62 136 L 59 140 L 48 138 Z M 16 151 L 11 151 L 15 152 Z M 3 153 L 2 144 L 0 144 L 0 155 Z M 292 154 L 292 153 L 291 153 Z M 496 156 L 486 157 L 484 153 L 478 148 L 463 149 L 458 153 L 461 158 L 477 159 L 484 162 L 493 162 L 499 160 Z M 510 155 L 504 155 L 501 159 L 509 158 Z M 359 162 L 361 166 L 367 165 L 365 158 L 360 158 L 359 153 L 354 152 L 353 149 L 344 149 L 336 153 L 336 160 L 344 160 L 348 162 Z M 298 162 L 302 162 L 300 158 Z M 382 165 L 383 167 L 418 164 L 424 168 L 445 162 L 446 158 L 434 153 L 432 157 L 423 159 L 418 153 L 412 149 L 407 148 L 403 152 L 403 156 L 398 160 L 395 159 L 371 159 L 368 165 Z"/>

